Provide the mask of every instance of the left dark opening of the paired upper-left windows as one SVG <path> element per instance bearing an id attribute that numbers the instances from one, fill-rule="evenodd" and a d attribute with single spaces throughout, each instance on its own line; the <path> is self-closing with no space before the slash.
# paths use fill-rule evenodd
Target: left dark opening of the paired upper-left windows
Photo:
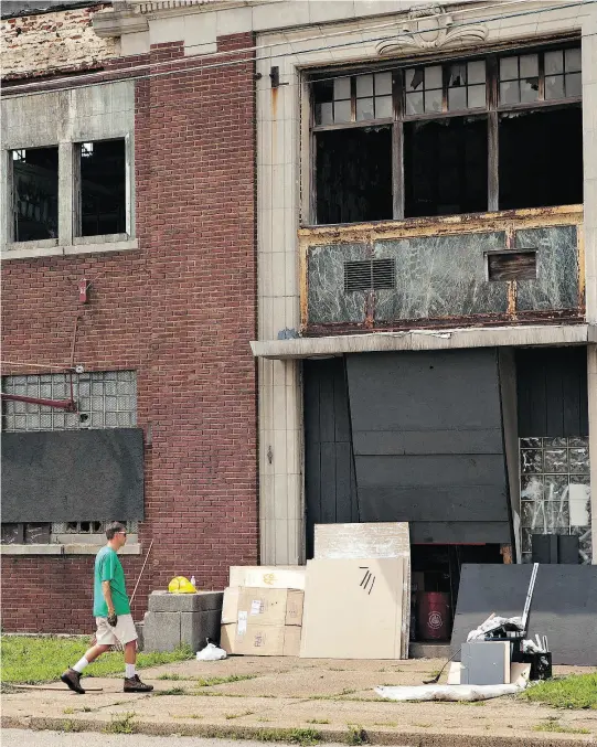
<path id="1" fill-rule="evenodd" d="M 14 241 L 58 235 L 58 149 L 12 151 Z"/>

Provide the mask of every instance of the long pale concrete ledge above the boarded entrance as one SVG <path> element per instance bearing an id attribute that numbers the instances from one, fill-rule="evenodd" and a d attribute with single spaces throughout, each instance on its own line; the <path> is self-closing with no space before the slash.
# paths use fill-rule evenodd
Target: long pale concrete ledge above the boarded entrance
<path id="1" fill-rule="evenodd" d="M 257 340 L 250 343 L 255 358 L 274 360 L 373 353 L 396 350 L 458 350 L 502 345 L 572 345 L 597 342 L 597 327 L 591 324 L 553 324 L 536 327 L 495 327 L 451 330 L 409 330 L 338 334 L 295 340 Z"/>

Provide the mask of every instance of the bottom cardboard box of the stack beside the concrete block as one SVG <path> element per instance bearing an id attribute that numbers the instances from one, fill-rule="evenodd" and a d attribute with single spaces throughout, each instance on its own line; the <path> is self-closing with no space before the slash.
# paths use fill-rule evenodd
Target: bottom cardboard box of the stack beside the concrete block
<path id="1" fill-rule="evenodd" d="M 237 625 L 222 626 L 220 645 L 226 653 L 253 657 L 298 657 L 299 626 Z"/>

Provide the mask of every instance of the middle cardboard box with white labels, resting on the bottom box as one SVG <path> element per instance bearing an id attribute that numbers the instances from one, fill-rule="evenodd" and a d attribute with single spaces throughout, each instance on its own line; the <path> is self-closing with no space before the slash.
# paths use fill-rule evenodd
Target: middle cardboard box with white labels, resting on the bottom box
<path id="1" fill-rule="evenodd" d="M 246 616 L 247 625 L 300 626 L 303 598 L 300 589 L 228 587 L 224 591 L 222 623 L 238 622 L 239 616 Z"/>

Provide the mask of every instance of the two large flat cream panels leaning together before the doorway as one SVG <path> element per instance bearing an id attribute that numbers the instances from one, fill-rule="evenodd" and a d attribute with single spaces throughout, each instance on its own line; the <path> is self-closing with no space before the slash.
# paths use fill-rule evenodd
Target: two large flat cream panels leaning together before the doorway
<path id="1" fill-rule="evenodd" d="M 321 524 L 307 564 L 300 655 L 407 659 L 408 524 Z"/>

